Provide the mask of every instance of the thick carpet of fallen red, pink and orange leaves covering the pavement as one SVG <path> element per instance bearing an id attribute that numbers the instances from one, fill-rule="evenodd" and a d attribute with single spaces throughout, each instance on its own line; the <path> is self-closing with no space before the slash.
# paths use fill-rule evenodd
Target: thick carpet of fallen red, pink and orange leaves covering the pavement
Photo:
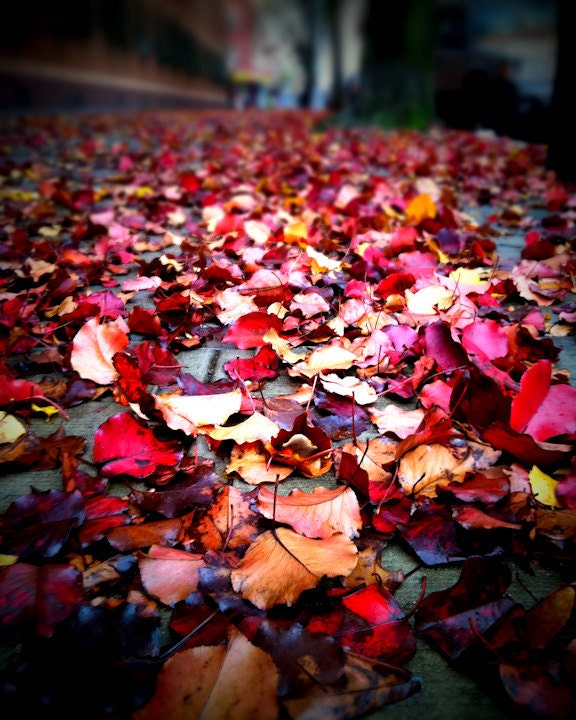
<path id="1" fill-rule="evenodd" d="M 352 718 L 417 638 L 574 717 L 576 195 L 541 146 L 317 120 L 4 122 L 5 717 Z M 403 608 L 391 542 L 458 581 Z"/>

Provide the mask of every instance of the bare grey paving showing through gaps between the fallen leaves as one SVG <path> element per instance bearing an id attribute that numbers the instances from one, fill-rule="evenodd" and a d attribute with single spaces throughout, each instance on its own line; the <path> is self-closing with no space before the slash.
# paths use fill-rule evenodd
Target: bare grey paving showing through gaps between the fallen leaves
<path id="1" fill-rule="evenodd" d="M 479 213 L 475 208 L 473 212 Z M 503 234 L 497 238 L 498 252 L 503 265 L 512 266 L 519 258 L 524 247 L 524 234 L 503 228 Z M 576 378 L 576 341 L 574 336 L 555 338 L 554 342 L 562 347 L 559 367 L 566 368 L 571 378 Z M 248 356 L 250 352 L 241 352 L 233 347 L 208 344 L 196 348 L 193 353 L 183 353 L 179 360 L 190 365 L 187 369 L 198 379 L 209 381 L 223 376 L 223 364 L 238 355 Z M 284 377 L 267 386 L 270 395 L 289 392 L 292 389 L 290 380 Z M 90 443 L 96 429 L 110 415 L 118 412 L 118 406 L 110 395 L 99 400 L 91 401 L 73 407 L 69 410 L 70 420 L 66 422 L 66 432 L 85 437 L 88 441 L 87 456 L 91 455 Z M 55 431 L 62 421 L 59 416 L 49 420 L 34 418 L 31 429 L 38 435 L 47 435 Z M 201 443 L 201 440 L 199 440 Z M 223 468 L 220 468 L 223 470 Z M 236 481 L 241 485 L 240 481 Z M 332 482 L 334 479 L 332 478 Z M 40 471 L 28 474 L 26 472 L 10 472 L 4 475 L 0 486 L 0 512 L 4 512 L 8 505 L 17 497 L 27 492 L 30 485 L 38 490 L 51 487 L 60 487 L 61 476 L 58 471 Z M 317 484 L 317 481 L 295 480 L 285 481 L 284 491 L 298 486 L 305 488 Z M 326 478 L 322 478 L 326 485 Z M 117 491 L 122 493 L 123 487 Z M 421 581 L 427 578 L 427 589 L 433 591 L 449 587 L 459 576 L 459 568 L 417 568 L 416 562 L 400 545 L 391 543 L 384 551 L 383 565 L 388 569 L 401 568 L 408 573 L 413 568 L 415 572 L 407 577 L 396 594 L 400 604 L 408 610 L 421 589 Z M 518 571 L 510 589 L 510 594 L 520 602 L 531 602 L 529 593 L 542 597 L 559 583 L 558 577 L 549 570 L 536 566 L 535 574 L 528 575 Z M 527 590 L 529 588 L 529 590 Z M 426 716 L 427 720 L 500 720 L 509 717 L 496 707 L 483 689 L 468 677 L 455 672 L 441 656 L 424 641 L 418 641 L 418 649 L 414 659 L 409 664 L 412 672 L 422 679 L 422 691 L 401 703 L 386 707 L 370 717 L 387 718 L 389 720 L 412 720 L 419 716 Z"/>

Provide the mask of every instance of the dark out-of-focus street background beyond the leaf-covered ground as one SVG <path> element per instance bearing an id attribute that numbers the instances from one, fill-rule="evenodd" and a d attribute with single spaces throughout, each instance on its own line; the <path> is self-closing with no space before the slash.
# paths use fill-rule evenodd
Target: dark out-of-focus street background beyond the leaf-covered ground
<path id="1" fill-rule="evenodd" d="M 313 108 L 544 142 L 561 0 L 12 0 L 0 112 Z"/>

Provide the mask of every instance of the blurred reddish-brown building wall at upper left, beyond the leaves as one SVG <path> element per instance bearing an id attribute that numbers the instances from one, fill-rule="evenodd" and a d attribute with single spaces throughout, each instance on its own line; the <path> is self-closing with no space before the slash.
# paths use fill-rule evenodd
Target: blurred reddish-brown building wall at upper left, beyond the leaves
<path id="1" fill-rule="evenodd" d="M 230 0 L 12 3 L 0 109 L 227 104 Z"/>

